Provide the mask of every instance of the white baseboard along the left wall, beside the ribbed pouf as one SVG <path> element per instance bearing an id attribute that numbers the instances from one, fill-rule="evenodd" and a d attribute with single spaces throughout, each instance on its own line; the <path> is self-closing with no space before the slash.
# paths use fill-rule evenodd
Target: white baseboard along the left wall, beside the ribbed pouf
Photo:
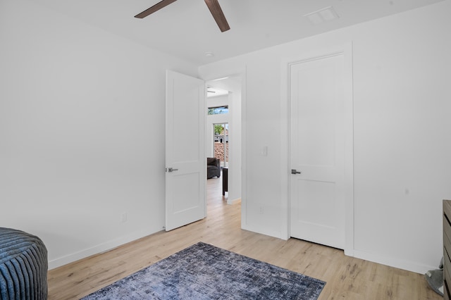
<path id="1" fill-rule="evenodd" d="M 61 265 L 67 265 L 68 263 L 73 263 L 74 261 L 78 261 L 82 258 L 87 258 L 88 256 L 92 256 L 94 254 L 101 254 L 102 252 L 109 251 L 113 248 L 116 248 L 123 244 L 127 244 L 132 241 L 135 241 L 136 239 L 146 237 L 147 235 L 152 235 L 154 233 L 155 232 L 149 232 L 147 230 L 142 230 L 140 232 L 134 232 L 132 235 L 126 235 L 124 237 L 119 237 L 118 239 L 113 239 L 109 242 L 104 242 L 102 244 L 98 244 L 91 248 L 88 248 L 88 249 L 85 249 L 82 251 L 78 251 L 73 254 L 69 254 L 67 256 L 52 259 L 51 261 L 49 261 L 49 270 L 61 267 Z"/>

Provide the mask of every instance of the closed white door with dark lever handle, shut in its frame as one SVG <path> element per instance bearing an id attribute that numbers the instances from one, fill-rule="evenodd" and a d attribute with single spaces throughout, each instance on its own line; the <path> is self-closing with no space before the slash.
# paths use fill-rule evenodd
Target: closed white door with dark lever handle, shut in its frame
<path id="1" fill-rule="evenodd" d="M 345 247 L 344 56 L 290 65 L 290 236 Z"/>

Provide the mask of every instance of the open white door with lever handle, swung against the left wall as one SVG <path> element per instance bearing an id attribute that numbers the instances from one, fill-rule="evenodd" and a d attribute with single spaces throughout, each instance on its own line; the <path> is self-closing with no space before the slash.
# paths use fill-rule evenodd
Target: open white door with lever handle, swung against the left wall
<path id="1" fill-rule="evenodd" d="M 166 71 L 166 231 L 206 217 L 205 88 Z"/>

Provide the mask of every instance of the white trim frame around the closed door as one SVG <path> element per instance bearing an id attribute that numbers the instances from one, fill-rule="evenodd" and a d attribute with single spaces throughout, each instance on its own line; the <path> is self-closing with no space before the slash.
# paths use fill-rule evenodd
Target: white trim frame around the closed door
<path id="1" fill-rule="evenodd" d="M 326 49 L 305 52 L 283 58 L 280 74 L 280 173 L 282 189 L 281 237 L 290 238 L 290 66 L 296 63 L 343 54 L 345 59 L 343 84 L 345 86 L 345 254 L 354 256 L 354 93 L 352 72 L 352 42 Z"/>

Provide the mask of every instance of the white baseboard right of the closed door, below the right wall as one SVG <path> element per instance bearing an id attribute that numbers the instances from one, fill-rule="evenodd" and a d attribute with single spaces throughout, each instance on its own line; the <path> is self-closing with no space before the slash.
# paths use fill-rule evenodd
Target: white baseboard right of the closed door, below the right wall
<path id="1" fill-rule="evenodd" d="M 399 258 L 393 258 L 388 256 L 381 256 L 378 254 L 372 254 L 365 251 L 358 251 L 354 249 L 354 257 L 364 259 L 365 261 L 372 261 L 373 263 L 381 263 L 382 265 L 389 265 L 393 268 L 398 268 L 402 270 L 408 270 L 414 273 L 424 274 L 428 270 L 435 270 L 438 268 L 437 265 L 424 265 L 421 263 L 416 263 L 414 261 L 407 261 Z"/>

